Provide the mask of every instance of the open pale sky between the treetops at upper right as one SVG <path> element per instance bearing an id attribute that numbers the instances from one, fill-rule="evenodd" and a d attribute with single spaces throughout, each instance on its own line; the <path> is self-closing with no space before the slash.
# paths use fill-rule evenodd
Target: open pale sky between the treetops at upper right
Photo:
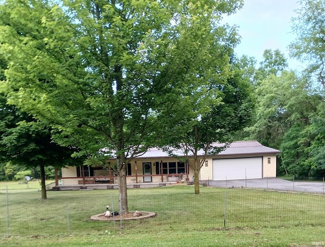
<path id="1" fill-rule="evenodd" d="M 224 17 L 224 21 L 239 26 L 241 43 L 235 49 L 239 57 L 253 56 L 257 63 L 263 60 L 266 49 L 279 49 L 290 68 L 300 68 L 295 59 L 289 59 L 287 46 L 294 41 L 291 32 L 291 17 L 300 5 L 297 0 L 244 0 L 244 7 L 236 14 Z"/>

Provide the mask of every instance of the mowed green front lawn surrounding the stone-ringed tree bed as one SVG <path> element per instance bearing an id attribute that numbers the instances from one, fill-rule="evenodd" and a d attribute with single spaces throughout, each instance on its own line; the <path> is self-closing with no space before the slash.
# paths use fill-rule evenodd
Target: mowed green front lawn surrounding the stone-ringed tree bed
<path id="1" fill-rule="evenodd" d="M 3 246 L 312 246 L 324 243 L 325 197 L 270 191 L 172 186 L 128 190 L 129 210 L 155 218 L 89 221 L 106 204 L 118 207 L 118 190 L 9 193 L 0 191 Z M 226 194 L 226 227 L 224 198 Z M 113 200 L 113 204 L 112 204 Z M 67 212 L 70 225 L 68 226 Z M 70 231 L 69 231 L 70 229 Z M 70 236 L 71 234 L 71 236 Z M 315 245 L 315 244 L 314 244 Z"/>

